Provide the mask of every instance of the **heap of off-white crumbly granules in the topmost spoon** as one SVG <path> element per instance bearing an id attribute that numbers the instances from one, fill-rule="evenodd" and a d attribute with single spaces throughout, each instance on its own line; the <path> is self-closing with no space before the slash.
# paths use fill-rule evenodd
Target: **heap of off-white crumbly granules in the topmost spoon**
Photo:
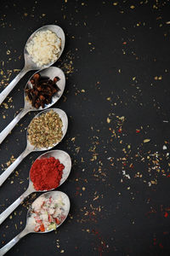
<path id="1" fill-rule="evenodd" d="M 42 67 L 57 60 L 61 39 L 50 30 L 40 31 L 26 45 L 26 49 L 37 67 Z"/>

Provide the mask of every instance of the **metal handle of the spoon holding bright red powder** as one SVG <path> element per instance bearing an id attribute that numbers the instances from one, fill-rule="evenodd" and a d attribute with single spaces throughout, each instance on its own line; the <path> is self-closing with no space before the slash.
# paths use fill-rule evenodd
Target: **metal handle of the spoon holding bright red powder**
<path id="1" fill-rule="evenodd" d="M 16 201 L 14 201 L 12 205 L 10 205 L 4 212 L 2 212 L 0 214 L 0 224 L 2 224 L 3 221 L 11 214 L 11 212 L 13 212 L 16 207 L 18 207 L 20 203 L 25 200 L 26 196 L 30 195 L 33 191 L 34 190 L 30 185 L 28 189 L 26 189 L 26 191 L 22 195 L 20 195 L 20 197 Z"/>

